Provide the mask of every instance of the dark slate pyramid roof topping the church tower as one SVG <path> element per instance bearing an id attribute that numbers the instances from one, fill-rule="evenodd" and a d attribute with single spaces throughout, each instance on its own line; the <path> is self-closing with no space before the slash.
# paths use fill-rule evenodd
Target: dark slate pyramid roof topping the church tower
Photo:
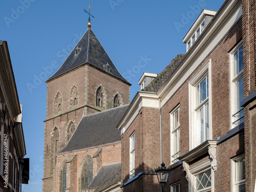
<path id="1" fill-rule="evenodd" d="M 110 71 L 106 68 L 107 64 L 109 64 Z M 47 79 L 46 82 L 83 65 L 92 66 L 103 73 L 109 74 L 110 76 L 131 85 L 131 83 L 116 69 L 116 66 L 91 28 L 87 29 L 58 71 Z"/>

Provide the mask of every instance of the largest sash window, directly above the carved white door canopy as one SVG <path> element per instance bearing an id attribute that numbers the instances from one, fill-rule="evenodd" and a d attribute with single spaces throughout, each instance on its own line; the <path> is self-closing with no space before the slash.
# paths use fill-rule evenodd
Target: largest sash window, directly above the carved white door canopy
<path id="1" fill-rule="evenodd" d="M 189 81 L 190 150 L 211 138 L 211 59 L 209 59 Z"/>

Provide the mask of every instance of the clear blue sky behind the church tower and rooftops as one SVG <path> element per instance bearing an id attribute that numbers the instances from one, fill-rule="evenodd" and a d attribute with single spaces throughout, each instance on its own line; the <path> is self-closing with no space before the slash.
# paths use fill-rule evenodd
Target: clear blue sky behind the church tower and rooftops
<path id="1" fill-rule="evenodd" d="M 185 54 L 182 39 L 202 9 L 218 10 L 224 0 L 1 1 L 0 40 L 8 43 L 30 158 L 30 181 L 23 191 L 42 190 L 45 80 L 87 30 L 88 14 L 83 9 L 88 11 L 90 3 L 95 16 L 92 30 L 133 84 L 132 100 L 142 73 L 160 73 L 177 54 Z"/>

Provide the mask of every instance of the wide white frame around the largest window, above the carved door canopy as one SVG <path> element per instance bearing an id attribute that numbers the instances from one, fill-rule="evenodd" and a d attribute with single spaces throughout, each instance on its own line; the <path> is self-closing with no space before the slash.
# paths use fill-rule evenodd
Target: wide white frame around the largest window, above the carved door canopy
<path id="1" fill-rule="evenodd" d="M 209 123 L 209 140 L 212 139 L 212 115 L 211 115 L 211 59 L 194 75 L 188 83 L 189 92 L 189 149 L 192 150 L 200 145 L 200 132 L 198 127 L 198 113 L 200 108 L 197 104 L 197 85 L 208 75 L 208 123 Z M 201 106 L 201 105 L 200 105 Z"/>

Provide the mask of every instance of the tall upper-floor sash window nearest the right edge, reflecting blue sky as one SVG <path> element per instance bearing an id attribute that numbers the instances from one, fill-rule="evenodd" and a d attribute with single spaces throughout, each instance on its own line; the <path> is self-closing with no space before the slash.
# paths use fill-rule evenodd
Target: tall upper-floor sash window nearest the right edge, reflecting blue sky
<path id="1" fill-rule="evenodd" d="M 231 52 L 231 100 L 232 100 L 232 127 L 244 122 L 244 109 L 240 102 L 244 99 L 243 78 L 243 47 L 236 47 Z"/>

